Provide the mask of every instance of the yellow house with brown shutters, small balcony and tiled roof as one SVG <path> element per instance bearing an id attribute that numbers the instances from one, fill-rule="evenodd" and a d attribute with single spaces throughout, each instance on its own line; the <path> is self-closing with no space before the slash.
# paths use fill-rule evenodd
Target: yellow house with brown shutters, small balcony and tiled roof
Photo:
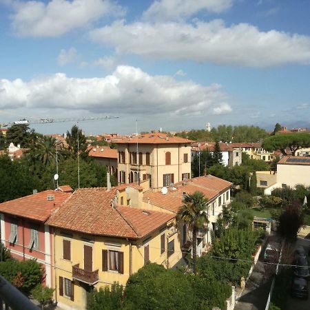
<path id="1" fill-rule="evenodd" d="M 63 309 L 85 309 L 87 291 L 119 282 L 147 262 L 173 267 L 181 258 L 175 214 L 134 207 L 142 187 L 77 189 L 54 210 L 52 278 Z"/>

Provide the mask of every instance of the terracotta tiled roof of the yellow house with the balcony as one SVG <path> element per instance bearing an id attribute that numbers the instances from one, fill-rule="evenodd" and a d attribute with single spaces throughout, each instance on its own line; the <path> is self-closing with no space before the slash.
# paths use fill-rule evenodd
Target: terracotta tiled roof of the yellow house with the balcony
<path id="1" fill-rule="evenodd" d="M 76 189 L 70 199 L 56 209 L 47 224 L 85 234 L 141 238 L 172 217 L 162 212 L 133 207 L 112 207 L 116 196 L 114 187 L 109 192 L 104 187 Z"/>

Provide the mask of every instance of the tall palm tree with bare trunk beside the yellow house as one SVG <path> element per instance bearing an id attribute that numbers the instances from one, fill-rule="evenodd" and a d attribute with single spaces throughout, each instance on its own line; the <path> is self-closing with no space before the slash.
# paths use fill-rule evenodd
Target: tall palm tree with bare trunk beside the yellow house
<path id="1" fill-rule="evenodd" d="M 205 227 L 208 223 L 207 216 L 207 198 L 202 192 L 194 194 L 185 194 L 183 205 L 176 214 L 178 223 L 181 221 L 188 225 L 192 230 L 193 242 L 193 270 L 196 274 L 196 256 L 197 256 L 197 233 L 198 230 Z"/>

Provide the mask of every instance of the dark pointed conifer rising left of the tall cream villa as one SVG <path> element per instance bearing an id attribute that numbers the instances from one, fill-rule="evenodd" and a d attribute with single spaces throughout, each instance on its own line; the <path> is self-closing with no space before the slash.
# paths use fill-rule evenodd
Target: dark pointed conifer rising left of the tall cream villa
<path id="1" fill-rule="evenodd" d="M 86 136 L 82 130 L 76 125 L 72 126 L 71 131 L 67 132 L 68 150 L 74 158 L 77 157 L 78 149 L 82 159 L 88 158 Z"/>

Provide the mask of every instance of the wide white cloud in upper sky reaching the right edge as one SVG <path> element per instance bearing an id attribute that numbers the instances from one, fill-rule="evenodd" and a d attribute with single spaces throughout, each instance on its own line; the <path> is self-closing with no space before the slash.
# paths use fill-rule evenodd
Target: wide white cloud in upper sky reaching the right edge
<path id="1" fill-rule="evenodd" d="M 310 37 L 276 30 L 262 32 L 253 25 L 209 23 L 125 24 L 116 21 L 90 32 L 93 41 L 110 45 L 118 54 L 156 59 L 192 59 L 250 67 L 310 63 Z"/>

